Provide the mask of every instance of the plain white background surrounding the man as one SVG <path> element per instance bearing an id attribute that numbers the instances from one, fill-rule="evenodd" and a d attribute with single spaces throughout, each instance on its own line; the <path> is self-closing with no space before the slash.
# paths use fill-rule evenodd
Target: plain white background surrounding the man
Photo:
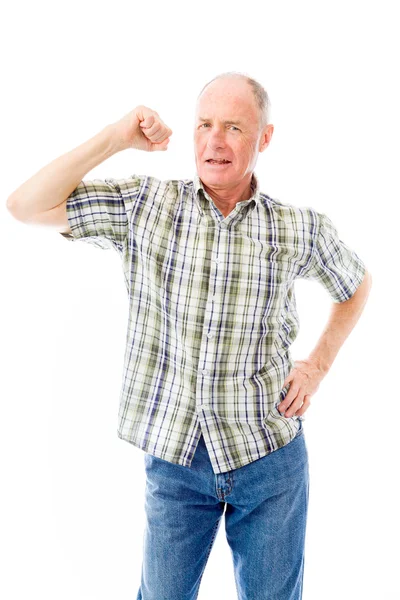
<path id="1" fill-rule="evenodd" d="M 373 276 L 305 415 L 303 598 L 400 598 L 395 9 L 352 0 L 38 0 L 3 12 L 3 598 L 135 599 L 145 518 L 144 453 L 116 433 L 128 306 L 119 257 L 16 221 L 6 199 L 138 104 L 173 130 L 168 151 L 127 150 L 86 178 L 191 178 L 197 94 L 229 70 L 258 79 L 272 100 L 261 190 L 328 214 Z M 331 301 L 315 282 L 296 286 L 292 356 L 301 359 Z M 236 597 L 222 525 L 199 600 Z"/>

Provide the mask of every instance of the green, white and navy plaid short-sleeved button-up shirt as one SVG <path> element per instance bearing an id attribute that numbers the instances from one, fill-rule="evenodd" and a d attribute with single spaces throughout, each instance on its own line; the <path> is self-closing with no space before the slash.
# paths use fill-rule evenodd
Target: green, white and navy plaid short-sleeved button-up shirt
<path id="1" fill-rule="evenodd" d="M 303 417 L 277 405 L 299 330 L 294 282 L 349 299 L 365 264 L 331 220 L 260 192 L 224 217 L 193 179 L 82 181 L 72 235 L 120 254 L 129 296 L 117 434 L 190 467 L 203 434 L 215 474 L 288 444 Z"/>

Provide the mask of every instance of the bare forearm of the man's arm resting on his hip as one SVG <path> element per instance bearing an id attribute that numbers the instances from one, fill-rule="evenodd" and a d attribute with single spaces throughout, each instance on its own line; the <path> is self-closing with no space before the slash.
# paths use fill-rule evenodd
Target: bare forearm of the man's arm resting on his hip
<path id="1" fill-rule="evenodd" d="M 309 356 L 309 360 L 321 371 L 329 371 L 340 348 L 356 325 L 364 310 L 371 284 L 371 276 L 366 272 L 364 280 L 349 300 L 332 305 L 329 320 Z"/>

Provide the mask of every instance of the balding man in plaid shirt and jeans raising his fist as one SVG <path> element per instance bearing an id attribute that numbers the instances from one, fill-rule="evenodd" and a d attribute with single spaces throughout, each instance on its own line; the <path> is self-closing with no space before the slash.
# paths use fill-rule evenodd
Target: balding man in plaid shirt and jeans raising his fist
<path id="1" fill-rule="evenodd" d="M 121 256 L 129 323 L 118 435 L 141 448 L 146 529 L 138 600 L 194 600 L 222 515 L 240 600 L 302 597 L 309 493 L 302 425 L 365 305 L 371 276 L 327 215 L 273 200 L 254 168 L 269 100 L 226 73 L 196 106 L 192 179 L 82 177 L 172 134 L 138 106 L 18 188 L 19 220 Z M 333 300 L 310 356 L 293 361 L 296 278 Z"/>

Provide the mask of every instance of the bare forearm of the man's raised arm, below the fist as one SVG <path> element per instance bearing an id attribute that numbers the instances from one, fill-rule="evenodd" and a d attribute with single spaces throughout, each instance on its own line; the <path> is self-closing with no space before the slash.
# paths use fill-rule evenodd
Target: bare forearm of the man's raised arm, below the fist
<path id="1" fill-rule="evenodd" d="M 43 167 L 7 199 L 8 210 L 21 220 L 50 210 L 68 198 L 94 167 L 119 152 L 113 125 Z"/>

